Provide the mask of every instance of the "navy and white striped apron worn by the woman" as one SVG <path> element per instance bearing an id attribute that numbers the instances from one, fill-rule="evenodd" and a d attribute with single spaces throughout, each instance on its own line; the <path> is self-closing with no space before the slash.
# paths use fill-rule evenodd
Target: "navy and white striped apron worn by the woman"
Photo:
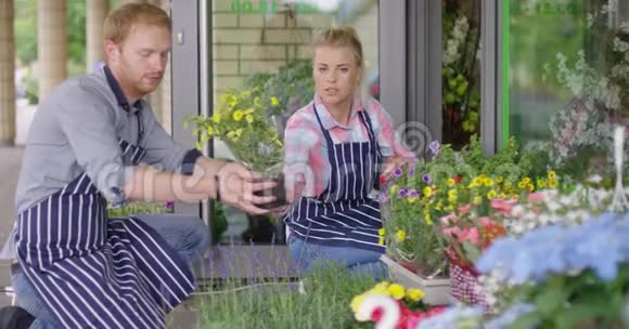
<path id="1" fill-rule="evenodd" d="M 284 222 L 297 238 L 337 247 L 354 247 L 384 252 L 378 236 L 382 228 L 380 201 L 368 197 L 377 181 L 382 155 L 367 111 L 358 113 L 369 141 L 334 144 L 314 115 L 328 143 L 330 181 L 316 198 L 301 197 Z"/>

